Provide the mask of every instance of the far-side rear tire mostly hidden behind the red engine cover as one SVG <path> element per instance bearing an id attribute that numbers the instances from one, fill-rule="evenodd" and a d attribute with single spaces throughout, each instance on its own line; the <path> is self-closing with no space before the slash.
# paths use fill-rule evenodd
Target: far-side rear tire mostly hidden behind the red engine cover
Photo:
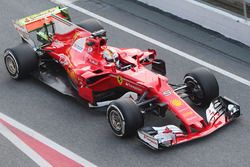
<path id="1" fill-rule="evenodd" d="M 79 27 L 93 33 L 99 30 L 104 30 L 101 23 L 96 19 L 87 19 L 78 24 Z"/>

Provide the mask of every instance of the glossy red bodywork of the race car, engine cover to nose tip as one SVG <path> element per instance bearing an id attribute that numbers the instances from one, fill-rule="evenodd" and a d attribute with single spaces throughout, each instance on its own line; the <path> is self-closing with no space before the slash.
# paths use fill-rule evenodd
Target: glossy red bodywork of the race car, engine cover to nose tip
<path id="1" fill-rule="evenodd" d="M 80 46 L 82 48 L 74 46 L 79 39 L 84 39 L 84 45 Z M 89 46 L 89 42 L 95 44 Z M 106 48 L 115 49 L 121 61 L 133 64 L 134 67 L 125 71 L 117 69 L 114 63 L 109 63 L 103 58 L 102 52 Z M 173 114 L 182 121 L 188 134 L 179 136 L 176 143 L 173 144 L 205 136 L 227 123 L 225 118 L 220 118 L 216 123 L 212 121 L 207 124 L 175 93 L 165 76 L 148 70 L 140 63 L 140 60 L 149 55 L 155 57 L 154 50 L 141 51 L 107 46 L 103 38 L 92 38 L 90 32 L 80 27 L 67 34 L 54 35 L 53 42 L 43 49 L 63 65 L 72 81 L 77 85 L 79 96 L 90 103 L 94 103 L 93 92 L 124 87 L 140 95 L 149 91 L 147 98 L 157 97 L 159 102 L 167 104 Z M 96 76 L 105 77 L 94 83 L 87 83 L 89 78 Z M 191 128 L 196 132 L 193 133 Z"/>

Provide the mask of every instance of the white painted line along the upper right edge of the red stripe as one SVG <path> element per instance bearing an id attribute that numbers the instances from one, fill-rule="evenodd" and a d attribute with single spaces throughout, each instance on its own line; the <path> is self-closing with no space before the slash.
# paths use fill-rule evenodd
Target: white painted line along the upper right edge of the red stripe
<path id="1" fill-rule="evenodd" d="M 11 124 L 12 126 L 14 126 L 15 128 L 25 132 L 26 134 L 28 134 L 29 136 L 32 136 L 33 138 L 35 138 L 36 140 L 46 144 L 47 146 L 53 148 L 54 150 L 60 152 L 61 154 L 65 155 L 66 157 L 76 161 L 79 164 L 83 164 L 86 167 L 96 167 L 96 165 L 94 165 L 93 163 L 87 161 L 86 159 L 80 157 L 79 155 L 73 153 L 72 151 L 62 147 L 61 145 L 55 143 L 54 141 L 48 139 L 47 137 L 41 135 L 40 133 L 34 131 L 33 129 L 17 122 L 16 120 L 8 117 L 7 115 L 3 114 L 0 112 L 0 119 L 8 122 L 9 124 Z M 0 123 L 1 124 L 1 123 Z M 2 127 L 3 128 L 3 127 Z M 0 133 L 2 133 L 3 129 L 0 129 Z M 3 134 L 4 135 L 4 134 Z M 10 136 L 10 135 L 9 135 Z M 6 137 L 6 136 L 5 136 Z M 8 136 L 7 136 L 8 137 Z M 6 137 L 6 138 L 7 138 Z M 13 137 L 13 136 L 11 136 Z M 9 139 L 9 138 L 8 138 Z M 11 141 L 11 140 L 10 140 Z M 14 143 L 13 143 L 14 144 Z M 20 148 L 19 148 L 20 149 Z M 23 151 L 23 150 L 22 150 Z M 38 157 L 36 157 L 37 159 Z"/>

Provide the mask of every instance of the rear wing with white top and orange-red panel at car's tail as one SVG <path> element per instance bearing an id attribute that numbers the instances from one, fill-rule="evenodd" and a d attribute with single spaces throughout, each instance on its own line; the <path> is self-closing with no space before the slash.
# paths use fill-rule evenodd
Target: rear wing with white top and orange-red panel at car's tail
<path id="1" fill-rule="evenodd" d="M 28 42 L 31 46 L 35 47 L 35 43 L 30 39 L 29 33 L 39 31 L 43 27 L 53 24 L 53 16 L 58 16 L 65 20 L 70 21 L 68 8 L 65 6 L 57 6 L 38 14 L 13 21 L 13 25 L 23 40 Z"/>

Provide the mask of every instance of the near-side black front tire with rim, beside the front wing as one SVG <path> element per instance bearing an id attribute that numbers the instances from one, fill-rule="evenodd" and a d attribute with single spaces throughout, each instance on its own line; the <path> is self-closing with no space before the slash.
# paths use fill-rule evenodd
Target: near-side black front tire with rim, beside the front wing
<path id="1" fill-rule="evenodd" d="M 107 118 L 118 137 L 133 136 L 144 124 L 139 107 L 129 98 L 113 101 L 107 109 Z"/>

